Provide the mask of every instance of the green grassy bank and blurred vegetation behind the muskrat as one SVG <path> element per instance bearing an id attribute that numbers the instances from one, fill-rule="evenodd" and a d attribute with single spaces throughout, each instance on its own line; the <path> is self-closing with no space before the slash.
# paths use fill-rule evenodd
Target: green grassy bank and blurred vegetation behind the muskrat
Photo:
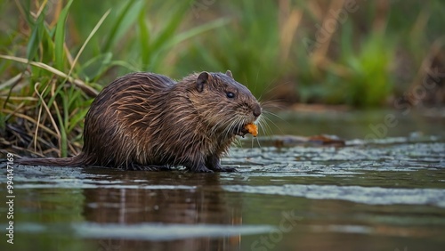
<path id="1" fill-rule="evenodd" d="M 67 156 L 104 85 L 225 71 L 261 101 L 442 106 L 445 1 L 2 1 L 0 144 Z"/>

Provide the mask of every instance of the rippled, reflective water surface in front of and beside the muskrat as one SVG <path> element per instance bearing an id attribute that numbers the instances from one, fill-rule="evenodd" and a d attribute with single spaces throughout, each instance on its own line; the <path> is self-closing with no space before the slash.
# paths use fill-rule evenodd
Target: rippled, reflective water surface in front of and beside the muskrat
<path id="1" fill-rule="evenodd" d="M 312 134 L 308 117 L 281 117 L 271 134 Z M 443 250 L 443 121 L 401 117 L 404 126 L 365 141 L 381 117 L 355 127 L 344 117 L 312 119 L 344 147 L 247 139 L 223 159 L 239 173 L 17 166 L 14 244 L 3 234 L 0 249 Z M 5 230 L 9 207 L 0 209 Z"/>

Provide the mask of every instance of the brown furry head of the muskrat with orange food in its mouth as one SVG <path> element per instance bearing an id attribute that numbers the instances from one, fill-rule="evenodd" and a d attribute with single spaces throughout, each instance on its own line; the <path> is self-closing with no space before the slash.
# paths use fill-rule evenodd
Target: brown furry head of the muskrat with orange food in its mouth
<path id="1" fill-rule="evenodd" d="M 262 113 L 260 103 L 246 86 L 233 79 L 230 70 L 225 74 L 204 71 L 186 79 L 191 84 L 190 101 L 211 130 L 244 136 L 245 126 Z"/>

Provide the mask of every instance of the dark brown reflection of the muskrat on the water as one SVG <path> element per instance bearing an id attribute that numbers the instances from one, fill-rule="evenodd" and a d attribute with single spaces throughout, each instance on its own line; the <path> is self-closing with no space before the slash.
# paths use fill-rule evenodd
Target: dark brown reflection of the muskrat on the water
<path id="1" fill-rule="evenodd" d="M 230 247 L 231 250 L 239 247 L 240 236 L 225 236 L 223 238 L 209 238 L 206 228 L 197 233 L 201 238 L 190 238 L 192 228 L 187 226 L 206 225 L 233 225 L 242 224 L 240 210 L 242 210 L 241 200 L 235 205 L 228 205 L 223 197 L 223 190 L 219 185 L 218 175 L 202 175 L 201 179 L 193 182 L 182 182 L 187 178 L 187 174 L 155 173 L 147 174 L 149 179 L 145 183 L 150 183 L 150 188 L 125 189 L 118 188 L 96 188 L 85 189 L 84 216 L 90 223 L 118 223 L 129 226 L 127 231 L 134 231 L 134 225 L 141 229 L 136 229 L 138 238 L 130 238 L 126 235 L 122 239 L 99 239 L 98 243 L 111 243 L 114 246 L 125 248 L 140 248 L 141 246 L 162 250 L 223 250 Z M 134 175 L 125 173 L 123 181 L 131 181 Z M 169 181 L 166 182 L 166 179 Z M 166 189 L 166 185 L 172 185 L 172 181 L 181 184 L 181 187 L 172 186 L 173 189 Z M 187 187 L 187 183 L 192 186 Z M 174 184 L 173 184 L 174 185 Z M 125 185 L 123 185 L 125 187 Z M 185 187 L 184 187 L 185 186 Z M 202 190 L 201 186 L 206 186 Z M 209 189 L 211 188 L 211 189 Z M 151 223 L 151 225 L 143 225 Z M 156 225 L 158 223 L 158 226 Z M 141 225 L 142 224 L 142 225 Z M 180 225 L 184 227 L 180 227 Z M 110 224 L 110 226 L 113 226 Z M 173 227 L 171 227 L 173 226 Z M 174 227 L 175 226 L 175 227 Z M 146 236 L 153 235 L 158 241 L 135 241 L 141 238 L 141 231 L 157 231 L 158 233 L 147 232 Z M 223 228 L 219 228 L 220 230 Z M 97 228 L 101 231 L 101 227 Z M 207 228 L 208 231 L 208 228 Z M 232 233 L 233 234 L 233 233 Z M 202 236 L 206 236 L 202 238 Z M 221 237 L 222 233 L 219 233 Z M 126 238 L 125 238 L 126 236 Z M 193 237 L 193 234 L 192 236 Z M 174 241 L 159 241 L 161 239 L 176 239 Z"/>

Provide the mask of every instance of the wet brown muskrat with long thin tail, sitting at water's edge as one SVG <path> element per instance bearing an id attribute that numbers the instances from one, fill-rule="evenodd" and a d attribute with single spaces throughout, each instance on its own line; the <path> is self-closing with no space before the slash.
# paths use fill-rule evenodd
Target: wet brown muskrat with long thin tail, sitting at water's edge
<path id="1" fill-rule="evenodd" d="M 177 83 L 159 74 L 131 73 L 103 88 L 93 101 L 77 156 L 17 163 L 231 172 L 235 169 L 221 166 L 220 159 L 261 113 L 260 103 L 230 70 L 194 73 Z"/>

